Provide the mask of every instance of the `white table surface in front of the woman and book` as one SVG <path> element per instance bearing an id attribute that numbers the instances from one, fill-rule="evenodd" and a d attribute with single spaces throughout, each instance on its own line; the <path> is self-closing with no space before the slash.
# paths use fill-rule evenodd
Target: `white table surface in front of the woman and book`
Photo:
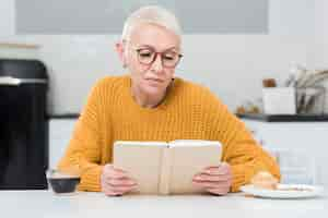
<path id="1" fill-rule="evenodd" d="M 328 196 L 307 199 L 269 199 L 227 196 L 145 196 L 107 197 L 102 193 L 79 192 L 56 195 L 51 191 L 0 191 L 0 217 L 327 217 Z"/>

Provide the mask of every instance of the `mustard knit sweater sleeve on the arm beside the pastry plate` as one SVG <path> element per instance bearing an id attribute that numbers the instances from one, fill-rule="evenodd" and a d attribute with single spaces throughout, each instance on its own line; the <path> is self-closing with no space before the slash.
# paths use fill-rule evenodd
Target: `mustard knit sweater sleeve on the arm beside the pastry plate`
<path id="1" fill-rule="evenodd" d="M 232 114 L 227 107 L 218 99 L 211 104 L 209 122 L 211 137 L 223 144 L 222 161 L 232 167 L 232 192 L 238 192 L 239 187 L 250 182 L 254 174 L 261 170 L 269 171 L 280 179 L 280 170 L 276 160 L 261 148 L 253 138 L 245 124 Z"/>

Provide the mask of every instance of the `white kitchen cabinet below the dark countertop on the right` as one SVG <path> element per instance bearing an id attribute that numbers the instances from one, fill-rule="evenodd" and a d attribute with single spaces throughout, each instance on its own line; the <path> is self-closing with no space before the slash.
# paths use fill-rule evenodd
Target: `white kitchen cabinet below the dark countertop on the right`
<path id="1" fill-rule="evenodd" d="M 328 121 L 327 122 L 266 122 L 243 119 L 255 138 L 277 156 L 282 173 L 306 166 L 309 178 L 297 182 L 328 185 Z M 304 168 L 304 169 L 305 169 Z M 290 175 L 292 177 L 292 175 Z M 291 178 L 290 178 L 291 179 Z M 292 179 L 291 179 L 292 180 Z M 309 181 L 312 180 L 312 181 Z"/>

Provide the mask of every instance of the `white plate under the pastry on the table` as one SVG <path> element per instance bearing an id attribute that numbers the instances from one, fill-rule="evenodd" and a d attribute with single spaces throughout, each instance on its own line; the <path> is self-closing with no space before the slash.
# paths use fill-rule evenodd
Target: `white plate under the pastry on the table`
<path id="1" fill-rule="evenodd" d="M 298 190 L 282 190 L 282 189 L 298 189 Z M 253 184 L 247 184 L 241 187 L 246 194 L 259 197 L 269 198 L 304 198 L 315 197 L 324 193 L 323 186 L 307 184 L 279 184 L 277 190 L 267 190 L 256 187 Z M 300 191 L 301 190 L 301 191 Z"/>

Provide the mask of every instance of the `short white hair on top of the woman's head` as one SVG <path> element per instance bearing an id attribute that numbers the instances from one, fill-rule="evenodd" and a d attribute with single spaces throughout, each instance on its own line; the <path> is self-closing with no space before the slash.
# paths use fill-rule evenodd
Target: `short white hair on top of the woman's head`
<path id="1" fill-rule="evenodd" d="M 179 38 L 181 37 L 179 22 L 171 11 L 157 5 L 148 5 L 129 15 L 124 25 L 121 40 L 129 40 L 133 28 L 142 23 L 163 26 L 175 33 Z"/>

